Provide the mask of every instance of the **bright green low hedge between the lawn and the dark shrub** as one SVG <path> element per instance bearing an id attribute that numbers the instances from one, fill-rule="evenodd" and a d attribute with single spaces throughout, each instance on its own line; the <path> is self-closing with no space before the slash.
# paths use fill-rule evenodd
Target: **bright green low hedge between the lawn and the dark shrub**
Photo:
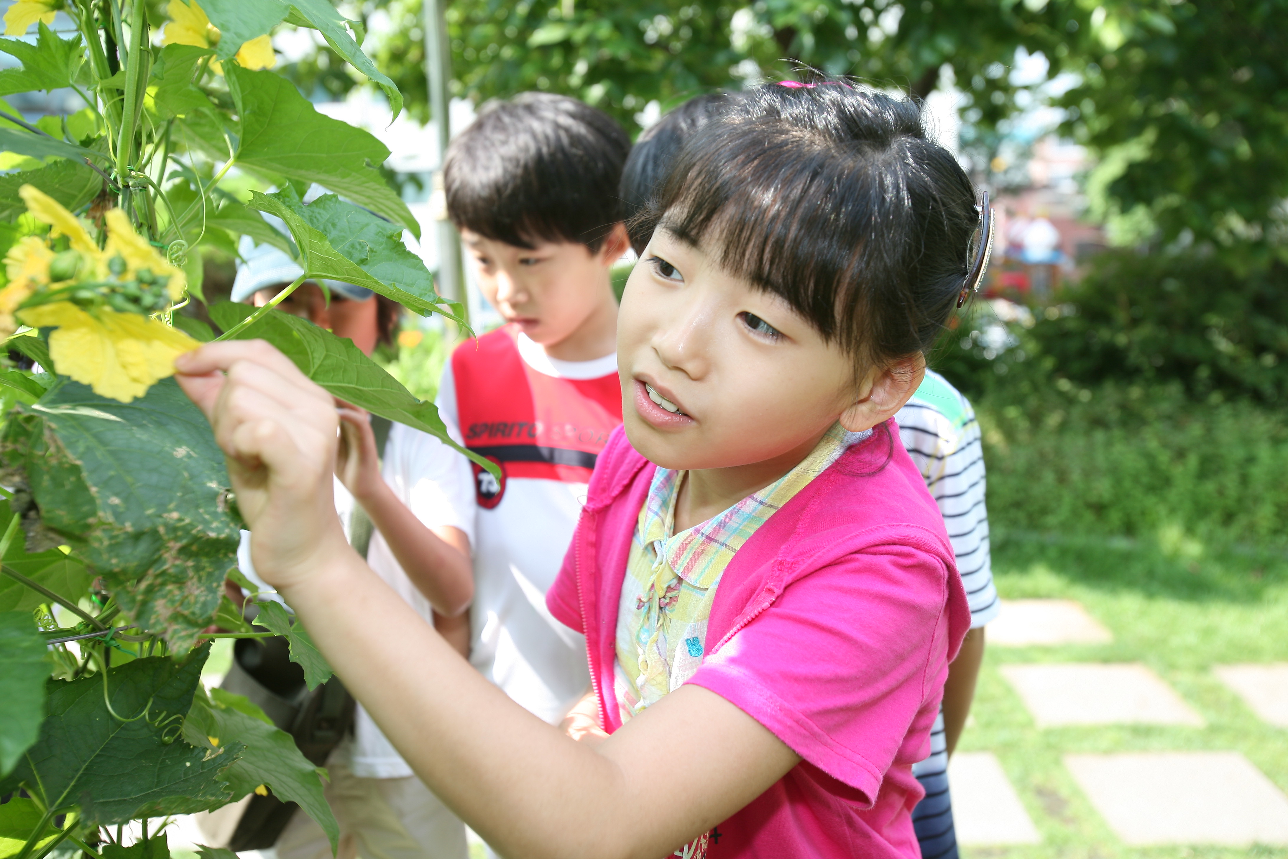
<path id="1" fill-rule="evenodd" d="M 1288 412 L 1179 384 L 994 388 L 975 402 L 996 528 L 1288 545 Z"/>

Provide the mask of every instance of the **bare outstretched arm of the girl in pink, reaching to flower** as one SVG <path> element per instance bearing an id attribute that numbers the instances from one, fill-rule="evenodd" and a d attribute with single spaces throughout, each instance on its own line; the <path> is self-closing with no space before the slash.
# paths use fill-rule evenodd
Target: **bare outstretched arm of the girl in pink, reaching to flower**
<path id="1" fill-rule="evenodd" d="M 501 854 L 657 859 L 800 761 L 693 685 L 594 747 L 532 716 L 345 542 L 331 498 L 337 417 L 325 392 L 263 341 L 209 344 L 176 366 L 228 456 L 255 568 L 416 774 Z M 417 658 L 394 657 L 406 652 Z"/>

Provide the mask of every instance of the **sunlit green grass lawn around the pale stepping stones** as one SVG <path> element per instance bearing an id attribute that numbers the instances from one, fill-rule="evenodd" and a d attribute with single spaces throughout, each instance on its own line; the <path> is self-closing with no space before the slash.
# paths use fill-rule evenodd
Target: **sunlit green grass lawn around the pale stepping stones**
<path id="1" fill-rule="evenodd" d="M 1003 599 L 1078 600 L 1113 631 L 1114 640 L 988 649 L 972 722 L 958 748 L 998 756 L 1042 844 L 963 847 L 965 856 L 1288 859 L 1288 847 L 1123 845 L 1061 761 L 1070 752 L 1238 751 L 1288 792 L 1288 732 L 1258 720 L 1212 674 L 1215 665 L 1288 659 L 1288 555 L 1218 550 L 1176 534 L 1141 542 L 996 534 L 993 568 Z M 1207 726 L 1039 730 L 998 672 L 999 666 L 1015 662 L 1142 662 Z"/>

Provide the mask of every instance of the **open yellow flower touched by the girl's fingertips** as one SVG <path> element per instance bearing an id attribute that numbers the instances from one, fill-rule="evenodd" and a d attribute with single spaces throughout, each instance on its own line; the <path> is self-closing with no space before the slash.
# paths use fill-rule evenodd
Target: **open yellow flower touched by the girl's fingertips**
<path id="1" fill-rule="evenodd" d="M 49 335 L 54 370 L 100 397 L 129 403 L 174 375 L 174 359 L 201 344 L 164 322 L 107 308 L 93 316 L 71 301 L 27 308 L 18 318 Z"/>

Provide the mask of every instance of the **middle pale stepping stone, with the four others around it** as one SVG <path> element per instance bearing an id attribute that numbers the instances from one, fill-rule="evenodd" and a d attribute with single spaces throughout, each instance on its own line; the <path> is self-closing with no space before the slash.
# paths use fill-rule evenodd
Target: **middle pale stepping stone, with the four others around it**
<path id="1" fill-rule="evenodd" d="M 1139 663 L 1012 663 L 1001 672 L 1038 728 L 1204 724 L 1171 686 Z"/>

